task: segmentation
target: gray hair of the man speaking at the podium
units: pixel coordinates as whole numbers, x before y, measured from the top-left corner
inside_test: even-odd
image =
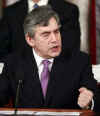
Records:
[[[52,10],[50,5],[40,6],[32,10],[24,20],[24,34],[34,37],[36,26],[48,26],[49,20],[54,17],[60,26],[58,14]]]

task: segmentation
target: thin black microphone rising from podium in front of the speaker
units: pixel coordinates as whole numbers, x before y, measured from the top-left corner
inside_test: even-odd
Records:
[[[19,93],[20,93],[20,88],[21,88],[22,82],[23,82],[22,80],[18,81],[17,92],[16,92],[16,99],[15,99],[14,116],[17,115],[17,107],[18,107],[18,102],[19,102]]]

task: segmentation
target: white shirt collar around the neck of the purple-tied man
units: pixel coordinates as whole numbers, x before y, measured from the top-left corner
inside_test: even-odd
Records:
[[[37,53],[35,52],[35,50],[33,49],[33,54],[34,54],[34,58],[36,60],[37,66],[39,67],[42,63],[43,60],[45,60],[44,58],[40,57],[39,55],[37,55]],[[51,64],[53,64],[54,58],[50,58],[47,59],[51,62]]]

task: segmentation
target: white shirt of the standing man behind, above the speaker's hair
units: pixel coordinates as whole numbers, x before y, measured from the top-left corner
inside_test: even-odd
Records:
[[[34,2],[33,0],[28,0],[28,12],[32,11],[34,8]],[[39,6],[42,6],[42,5],[47,5],[48,4],[48,0],[40,0],[38,3],[37,3]]]

